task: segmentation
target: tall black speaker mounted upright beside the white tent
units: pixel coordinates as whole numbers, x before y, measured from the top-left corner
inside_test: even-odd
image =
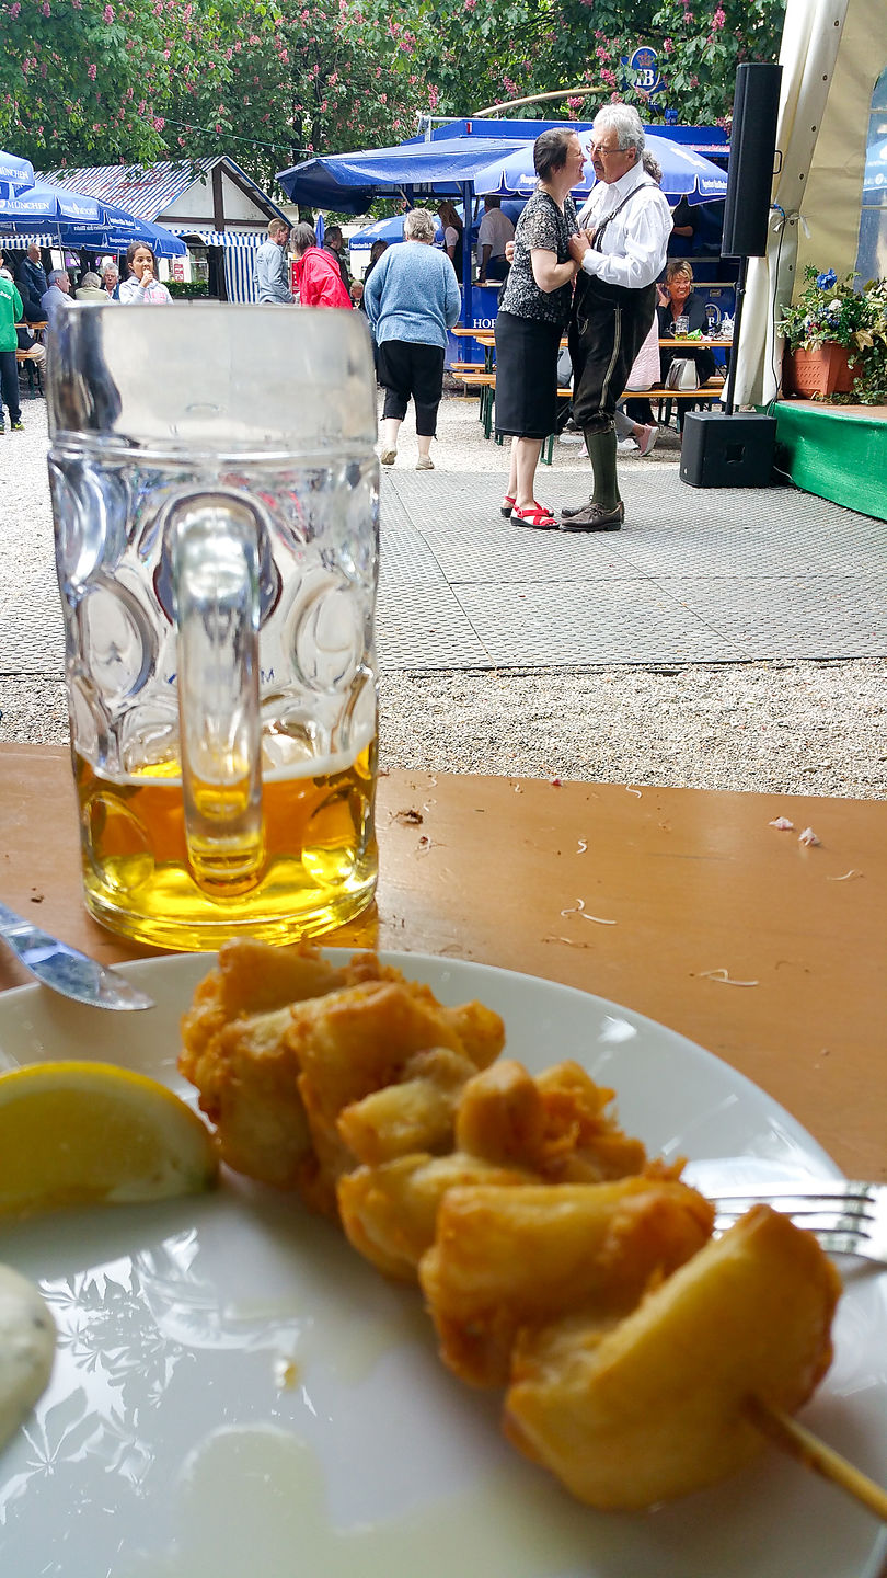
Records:
[[[783,68],[735,69],[721,257],[764,257]]]

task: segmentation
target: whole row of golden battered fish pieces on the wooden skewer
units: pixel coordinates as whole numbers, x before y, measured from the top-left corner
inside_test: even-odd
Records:
[[[822,1379],[840,1280],[813,1236],[758,1207],[712,1240],[712,1206],[622,1133],[612,1092],[497,1060],[480,1004],[374,955],[232,944],[183,1029],[224,1158],[418,1277],[444,1360],[507,1387],[505,1433],[581,1501],[723,1479],[764,1449],[750,1398],[791,1412]]]

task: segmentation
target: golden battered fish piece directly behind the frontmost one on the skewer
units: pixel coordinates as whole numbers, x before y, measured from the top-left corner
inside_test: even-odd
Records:
[[[473,1385],[505,1385],[522,1329],[576,1311],[627,1314],[710,1237],[713,1207],[685,1184],[492,1184],[450,1188],[418,1278],[440,1357]]]

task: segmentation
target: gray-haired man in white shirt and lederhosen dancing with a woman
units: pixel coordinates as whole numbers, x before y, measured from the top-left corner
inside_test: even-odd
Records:
[[[616,477],[616,402],[653,320],[671,210],[644,169],[644,128],[630,104],[600,110],[589,153],[597,185],[570,240],[579,264],[570,357],[573,420],[586,436],[593,492],[579,508],[560,511],[560,530],[619,532],[625,505]]]

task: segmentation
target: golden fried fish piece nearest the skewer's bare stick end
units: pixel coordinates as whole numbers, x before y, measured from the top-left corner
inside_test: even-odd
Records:
[[[764,1447],[747,1398],[792,1414],[825,1374],[840,1291],[813,1234],[756,1206],[616,1326],[521,1335],[505,1434],[604,1510],[712,1485]]]

